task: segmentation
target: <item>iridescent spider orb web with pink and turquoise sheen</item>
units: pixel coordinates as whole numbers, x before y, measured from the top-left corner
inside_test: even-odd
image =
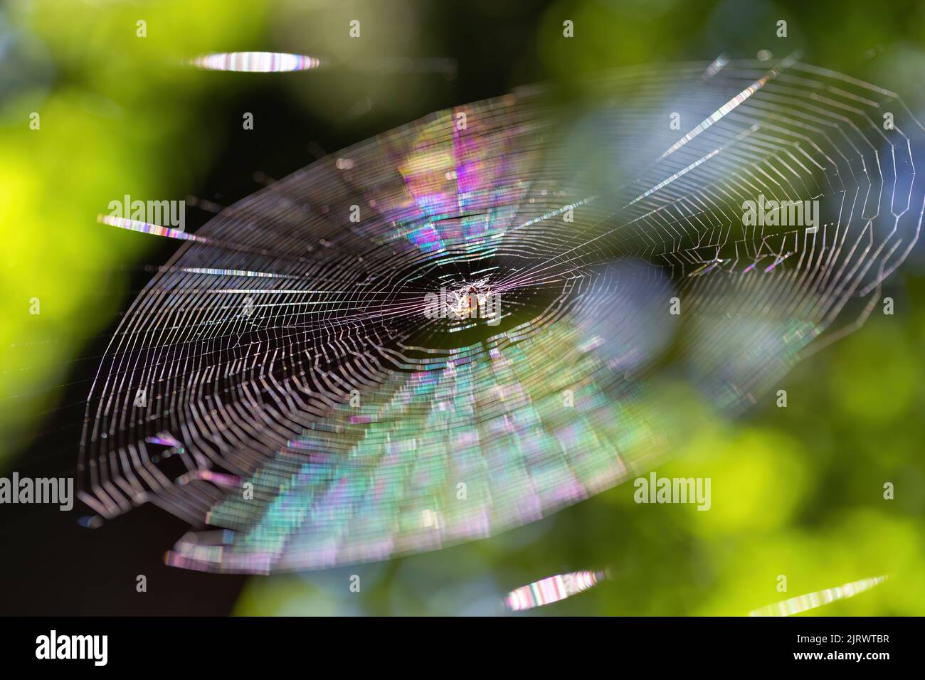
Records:
[[[921,132],[870,84],[725,61],[342,150],[178,241],[100,365],[81,498],[152,502],[191,525],[168,563],[245,573],[586,499],[672,451],[669,378],[734,414],[870,315],[918,239]]]

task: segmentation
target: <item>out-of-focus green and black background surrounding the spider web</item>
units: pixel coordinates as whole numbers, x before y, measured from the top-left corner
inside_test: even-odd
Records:
[[[348,25],[359,19],[362,39]],[[574,38],[561,39],[564,19]],[[775,35],[788,22],[788,37]],[[138,36],[138,21],[145,37]],[[208,52],[326,57],[326,69],[216,73]],[[72,475],[83,400],[120,314],[176,248],[97,224],[125,194],[187,200],[188,231],[352,142],[538,80],[638,63],[802,51],[900,93],[925,119],[925,3],[729,0],[12,0],[0,7],[0,476]],[[31,114],[40,128],[32,130]],[[242,130],[245,112],[254,130]],[[192,199],[190,197],[195,197]],[[198,200],[198,201],[197,201]],[[207,205],[207,204],[206,204]],[[310,575],[200,575],[161,552],[184,525],[142,508],[0,506],[4,613],[499,612],[544,576],[611,567],[549,614],[743,614],[888,574],[825,614],[925,613],[925,278],[891,278],[854,335],[735,422],[699,422],[660,476],[710,476],[712,508],[636,505],[625,484],[495,538]],[[30,314],[38,298],[41,314]],[[883,484],[894,483],[893,501]],[[137,593],[136,576],[148,579]],[[351,592],[350,575],[362,589]],[[788,591],[778,592],[778,575]]]

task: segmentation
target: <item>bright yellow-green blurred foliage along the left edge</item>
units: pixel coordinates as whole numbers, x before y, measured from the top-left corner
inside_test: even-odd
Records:
[[[221,6],[224,11],[216,9]],[[61,398],[69,362],[124,304],[111,276],[150,247],[96,223],[124,194],[176,196],[209,167],[216,142],[195,117],[207,96],[179,68],[191,51],[256,40],[260,2],[136,6],[18,2],[3,19],[6,63],[22,44],[48,78],[9,83],[0,104],[0,461]],[[247,17],[248,20],[241,20]],[[136,21],[147,22],[147,37]],[[40,114],[31,130],[30,115]],[[178,157],[179,149],[194,149]],[[30,314],[38,298],[41,313]],[[6,465],[5,465],[6,466]]]

